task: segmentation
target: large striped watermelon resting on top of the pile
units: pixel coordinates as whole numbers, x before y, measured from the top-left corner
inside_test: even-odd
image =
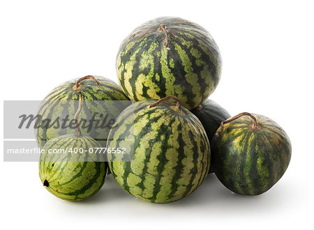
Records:
[[[187,109],[204,102],[220,79],[218,46],[204,28],[179,17],[137,27],[117,55],[120,86],[131,100],[175,95]]]

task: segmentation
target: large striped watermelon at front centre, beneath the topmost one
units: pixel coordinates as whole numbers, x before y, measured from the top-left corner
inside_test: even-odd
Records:
[[[168,203],[201,185],[209,171],[210,148],[191,112],[160,100],[135,102],[119,115],[107,148],[126,148],[128,154],[109,154],[108,164],[126,192],[144,201]]]

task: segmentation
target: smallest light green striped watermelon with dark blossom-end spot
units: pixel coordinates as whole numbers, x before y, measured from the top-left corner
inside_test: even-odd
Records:
[[[75,148],[78,153],[74,152]],[[101,146],[91,137],[81,135],[63,135],[48,141],[39,162],[40,181],[46,189],[68,201],[79,201],[96,194],[105,182],[107,166],[100,162],[100,155],[88,154],[91,148],[94,151]],[[68,152],[46,154],[49,149]]]

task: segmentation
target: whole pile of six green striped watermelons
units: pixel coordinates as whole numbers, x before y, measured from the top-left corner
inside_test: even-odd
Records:
[[[39,171],[45,188],[78,201],[96,194],[112,174],[129,194],[169,203],[187,197],[214,173],[238,194],[269,190],[290,162],[290,139],[266,116],[230,116],[208,99],[220,80],[221,63],[214,39],[198,24],[159,17],[137,27],[117,54],[119,86],[89,75],[57,86],[41,103],[43,120],[66,114],[74,118],[75,129],[43,125],[36,129],[38,146],[86,150],[42,154]],[[79,103],[58,106],[70,100]],[[133,102],[128,107],[98,104],[125,100]],[[93,103],[84,106],[84,101]],[[80,128],[77,119],[93,113],[115,118],[109,132]],[[89,154],[94,148],[106,149],[107,159]]]

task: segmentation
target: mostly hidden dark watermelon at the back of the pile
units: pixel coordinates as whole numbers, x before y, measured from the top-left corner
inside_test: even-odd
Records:
[[[225,121],[230,117],[227,110],[223,109],[223,107],[214,102],[214,100],[210,99],[205,100],[201,105],[192,109],[190,112],[192,112],[202,123],[209,139],[209,143],[211,143],[211,139],[213,139],[221,121]],[[215,152],[211,149],[211,156],[214,154]],[[212,163],[211,168],[209,169],[210,174],[214,172],[214,167],[215,166]]]

